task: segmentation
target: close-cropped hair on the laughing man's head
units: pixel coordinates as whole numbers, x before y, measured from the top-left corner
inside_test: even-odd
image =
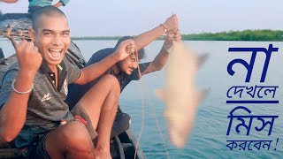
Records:
[[[48,17],[58,17],[58,16],[65,17],[65,13],[59,10],[57,7],[53,5],[44,6],[38,9],[37,11],[34,11],[32,15],[33,29],[35,32],[36,29],[38,28],[38,20],[41,19],[43,15]]]

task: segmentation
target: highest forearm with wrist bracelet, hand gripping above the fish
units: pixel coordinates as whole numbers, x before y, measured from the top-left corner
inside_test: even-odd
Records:
[[[145,46],[148,46],[150,42],[155,41],[158,37],[163,34],[166,34],[165,31],[170,32],[172,30],[177,30],[179,28],[179,22],[177,15],[173,15],[166,19],[166,21],[155,27],[148,32],[139,34],[134,37],[134,42],[136,43],[136,48],[142,49]]]

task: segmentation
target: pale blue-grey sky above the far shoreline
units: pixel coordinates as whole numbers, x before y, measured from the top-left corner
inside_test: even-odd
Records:
[[[57,2],[57,1],[54,1]],[[28,0],[0,4],[3,13],[27,12]],[[73,36],[141,34],[175,12],[182,34],[283,29],[282,0],[71,0],[61,7]]]

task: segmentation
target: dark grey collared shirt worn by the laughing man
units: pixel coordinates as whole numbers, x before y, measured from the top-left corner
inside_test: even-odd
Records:
[[[13,64],[8,72],[5,73],[2,87],[0,89],[0,108],[4,106],[11,94],[11,81],[15,79],[19,71],[19,64]],[[42,63],[41,68],[34,78],[34,89],[27,103],[27,119],[24,128],[17,137],[16,146],[24,147],[30,144],[30,135],[33,130],[40,127],[46,131],[56,128],[61,119],[72,120],[68,105],[64,102],[68,93],[67,85],[73,83],[80,77],[80,69],[64,59],[57,66],[58,84],[55,82],[55,73]],[[35,127],[35,128],[34,128]],[[20,140],[19,140],[20,139]]]

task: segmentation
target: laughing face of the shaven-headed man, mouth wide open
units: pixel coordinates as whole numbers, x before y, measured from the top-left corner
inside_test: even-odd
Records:
[[[60,64],[65,51],[70,46],[70,29],[64,16],[43,15],[34,31],[34,45],[42,54],[43,60],[51,67]]]

